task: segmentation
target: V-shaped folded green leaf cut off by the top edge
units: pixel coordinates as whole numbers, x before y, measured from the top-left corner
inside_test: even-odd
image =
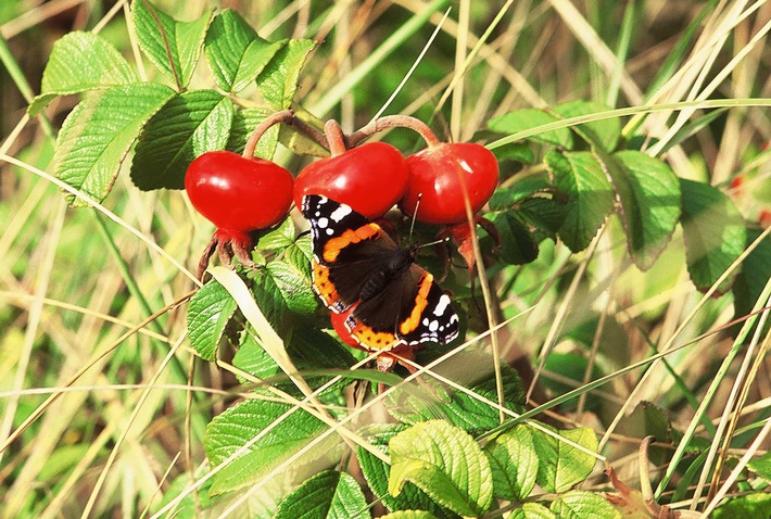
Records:
[[[139,48],[179,89],[190,83],[213,13],[178,22],[147,0],[135,0],[131,5]]]

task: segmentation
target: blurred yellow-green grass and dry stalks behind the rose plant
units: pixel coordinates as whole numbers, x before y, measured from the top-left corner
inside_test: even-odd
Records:
[[[768,206],[769,2],[156,4],[181,20],[232,7],[265,38],[323,41],[301,76],[298,101],[346,130],[386,105],[452,5],[387,114],[415,115],[460,141],[517,107],[583,99],[646,114],[642,106],[693,101],[682,111],[650,112],[640,119],[641,132],[661,142],[678,137],[666,154],[675,173],[720,187],[748,220],[762,219]],[[418,24],[429,7],[433,14]],[[195,360],[185,340],[185,307],[173,305],[194,288],[179,265],[193,268],[212,227],[182,193],[140,192],[127,170],[104,202],[117,220],[67,208],[49,176],[50,159],[56,128],[77,100],[55,101],[41,118],[25,115],[52,43],[71,30],[100,31],[143,77],[156,76],[136,51],[127,8],[81,0],[0,4],[0,517],[136,517],[151,504],[157,508],[170,479],[201,470],[205,425],[239,395],[227,366]],[[410,24],[415,30],[407,31]],[[212,86],[205,66],[193,86]],[[680,139],[680,125],[699,121],[710,100],[732,107]],[[386,139],[405,152],[415,145],[399,131]],[[648,149],[658,145],[652,140]],[[288,153],[278,160],[293,170],[304,163]],[[604,434],[608,463],[634,482],[643,426],[611,425],[647,401],[684,430],[733,346],[723,330],[734,302],[730,294],[705,300],[694,289],[677,237],[641,273],[630,266],[621,236],[610,220],[585,254],[546,244],[533,264],[491,276],[503,315],[529,311],[503,330],[504,356],[533,366],[547,359],[534,384],[546,400],[581,387],[587,365],[614,374],[656,349],[698,338],[666,363],[618,377],[552,414]],[[697,429],[707,446],[715,427],[708,422],[728,418],[732,391],[747,391],[733,454],[746,453],[768,425],[768,341],[754,340],[759,350],[748,359],[757,369],[744,374],[740,355],[720,375]],[[755,446],[768,447],[768,439]],[[691,506],[685,494],[678,497],[679,506]]]

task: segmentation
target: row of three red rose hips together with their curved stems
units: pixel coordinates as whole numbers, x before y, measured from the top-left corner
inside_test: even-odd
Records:
[[[278,123],[307,134],[329,149],[331,156],[313,162],[296,178],[270,161],[255,159],[260,137]],[[404,159],[384,142],[357,145],[370,135],[396,126],[418,131],[428,148]],[[281,221],[292,201],[300,208],[306,194],[323,194],[370,219],[399,205],[410,218],[445,226],[445,236],[457,238],[468,236],[468,215],[478,221],[475,215],[497,181],[498,164],[492,152],[470,142],[440,142],[428,126],[413,117],[383,117],[344,136],[333,121],[321,135],[291,111],[279,112],[255,128],[242,155],[207,152],[188,167],[185,188],[190,202],[217,227],[201,257],[199,277],[215,249],[224,263],[236,255],[251,264],[250,232]]]

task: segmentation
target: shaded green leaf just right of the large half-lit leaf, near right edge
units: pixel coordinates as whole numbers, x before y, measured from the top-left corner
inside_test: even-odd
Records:
[[[742,214],[722,191],[685,179],[680,179],[680,187],[688,273],[696,288],[707,291],[744,252],[747,232]],[[718,293],[731,288],[737,270],[718,287]]]

